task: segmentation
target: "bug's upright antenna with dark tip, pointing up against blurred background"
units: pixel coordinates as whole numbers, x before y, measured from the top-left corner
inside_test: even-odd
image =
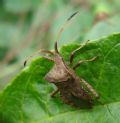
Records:
[[[61,35],[62,35],[62,33],[63,33],[65,27],[68,25],[68,23],[70,22],[70,20],[71,20],[75,15],[77,15],[77,14],[78,14],[78,11],[77,11],[77,12],[74,12],[74,13],[64,22],[64,24],[63,24],[62,27],[60,28],[60,30],[59,30],[59,32],[58,32],[58,35],[57,35],[57,38],[56,38],[55,46],[54,46],[54,47],[55,47],[55,52],[58,53],[57,42],[58,42],[58,40],[60,39],[60,37],[61,37]]]

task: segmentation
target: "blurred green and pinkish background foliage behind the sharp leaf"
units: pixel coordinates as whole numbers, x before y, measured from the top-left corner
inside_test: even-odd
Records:
[[[61,26],[75,11],[79,15],[65,27],[59,46],[120,32],[119,6],[119,0],[1,0],[0,88],[28,55],[53,48]]]

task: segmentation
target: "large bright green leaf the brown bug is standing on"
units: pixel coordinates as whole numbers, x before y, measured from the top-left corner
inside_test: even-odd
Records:
[[[67,61],[77,44],[63,46]],[[59,94],[50,97],[53,85],[43,77],[53,63],[38,58],[25,68],[0,94],[0,123],[119,123],[120,122],[120,34],[90,42],[76,53],[79,59],[98,56],[82,64],[76,74],[88,81],[105,105],[77,109],[64,104]]]

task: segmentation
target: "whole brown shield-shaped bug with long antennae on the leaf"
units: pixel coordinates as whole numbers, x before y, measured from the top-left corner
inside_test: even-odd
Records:
[[[72,14],[67,22],[77,14]],[[66,24],[66,23],[65,23]],[[65,25],[64,25],[65,26]],[[64,28],[61,28],[58,37],[61,35]],[[56,85],[57,89],[51,94],[54,97],[56,93],[60,92],[60,97],[64,103],[75,107],[92,107],[93,98],[98,99],[99,95],[84,79],[76,75],[75,69],[82,63],[94,61],[96,57],[89,60],[80,60],[74,66],[72,65],[75,53],[86,45],[81,45],[79,48],[71,52],[69,63],[66,63],[58,51],[57,42],[54,46],[54,51],[40,50],[38,52],[45,52],[52,55],[52,58],[43,56],[44,58],[53,61],[53,68],[45,75],[45,80]],[[36,53],[38,53],[36,52]],[[33,54],[35,55],[35,54]],[[30,57],[32,57],[31,55]],[[28,59],[30,58],[28,57]],[[27,59],[27,60],[28,60]],[[27,60],[24,62],[26,65]]]

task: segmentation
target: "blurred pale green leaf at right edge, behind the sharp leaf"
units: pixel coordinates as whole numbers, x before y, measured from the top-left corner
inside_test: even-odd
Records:
[[[108,36],[113,33],[120,32],[120,14],[117,14],[110,19],[103,20],[96,25],[86,34],[84,40],[98,39],[102,36]]]

